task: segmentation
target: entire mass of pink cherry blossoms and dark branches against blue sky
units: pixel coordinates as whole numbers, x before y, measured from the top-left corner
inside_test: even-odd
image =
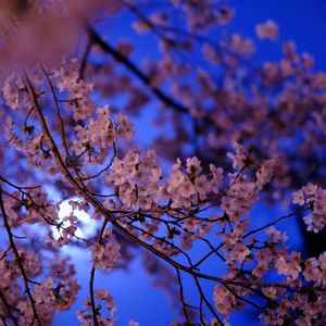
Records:
[[[97,271],[122,267],[137,251],[145,253],[155,284],[174,300],[179,294],[181,324],[206,325],[212,318],[212,325],[229,325],[233,312],[250,305],[266,325],[322,325],[325,252],[305,260],[290,250],[277,226],[308,210],[308,230],[326,225],[326,190],[317,186],[324,174],[313,166],[325,161],[326,74],[313,71],[313,59],[287,42],[279,61],[253,70],[259,48],[251,39],[238,33],[210,39],[233,16],[231,9],[211,0],[171,0],[163,5],[167,10],[152,8],[149,14],[146,4],[133,1],[27,2],[9,15],[17,15],[16,22],[0,22],[1,46],[23,51],[14,55],[18,67],[11,65],[2,83],[2,323],[49,325],[57,313],[72,309],[79,285],[61,248],[80,243],[91,265],[89,297],[77,315],[83,325],[115,324],[112,296],[95,288]],[[158,37],[159,59],[138,66],[131,41],[114,47],[92,28],[99,10],[113,13],[123,5],[137,17],[131,23],[137,32]],[[28,23],[30,17],[37,18]],[[72,26],[72,34],[63,26],[50,28],[57,17]],[[38,33],[28,45],[22,36],[32,27]],[[80,43],[85,52],[78,59],[68,51],[62,57],[75,28],[88,36]],[[34,46],[48,34],[53,42],[36,54]],[[276,40],[278,26],[267,21],[256,34]],[[109,98],[110,110],[103,104]],[[166,108],[155,112],[160,127],[168,123],[176,137],[160,135],[155,150],[143,151],[130,145],[133,123],[122,112],[141,114],[156,101]],[[156,153],[173,156],[170,172]],[[292,202],[302,209],[277,217],[266,209],[263,223],[256,208],[288,200],[286,190],[298,184],[306,184],[293,193]],[[59,220],[61,201],[51,199],[58,193],[82,199],[71,205],[91,214],[96,236],[78,236],[75,211]],[[209,281],[211,287],[203,286]],[[197,290],[198,306],[186,297],[185,285]]]

